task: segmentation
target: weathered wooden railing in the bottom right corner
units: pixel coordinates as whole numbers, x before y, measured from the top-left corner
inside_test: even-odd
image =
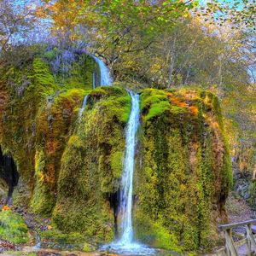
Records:
[[[249,256],[252,255],[252,246],[254,247],[254,250],[256,250],[256,242],[253,237],[252,224],[256,224],[256,219],[243,221],[236,224],[224,224],[224,225],[218,226],[219,230],[224,232],[226,243],[225,243],[225,249],[219,250],[217,254],[223,255],[224,253],[224,255],[227,255],[227,256],[238,256],[237,248],[246,244],[247,255]],[[241,241],[234,242],[232,237],[232,229],[241,227],[241,226],[245,226],[247,229],[246,237]],[[221,252],[221,251],[224,251],[224,252]]]

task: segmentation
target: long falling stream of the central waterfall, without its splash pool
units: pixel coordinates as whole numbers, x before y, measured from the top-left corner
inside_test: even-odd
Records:
[[[131,209],[132,209],[132,181],[133,181],[133,170],[134,170],[134,154],[136,147],[136,134],[139,125],[140,115],[140,100],[139,95],[131,95],[131,113],[128,122],[128,127],[125,133],[126,137],[126,153],[124,170],[122,174],[122,187],[120,193],[119,210],[122,214],[120,228],[122,235],[120,243],[127,245],[133,240],[133,229],[131,220]]]

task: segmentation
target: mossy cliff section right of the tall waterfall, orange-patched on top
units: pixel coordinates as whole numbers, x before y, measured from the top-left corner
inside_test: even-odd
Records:
[[[155,247],[211,247],[232,183],[218,99],[147,89],[141,101],[136,237]]]

